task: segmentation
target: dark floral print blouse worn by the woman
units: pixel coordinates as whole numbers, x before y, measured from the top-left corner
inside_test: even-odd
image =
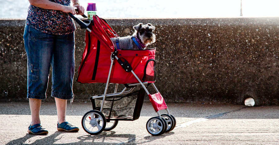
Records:
[[[64,6],[70,6],[70,0],[49,0]],[[26,24],[39,31],[54,34],[66,35],[76,30],[73,19],[60,10],[48,10],[30,5]]]

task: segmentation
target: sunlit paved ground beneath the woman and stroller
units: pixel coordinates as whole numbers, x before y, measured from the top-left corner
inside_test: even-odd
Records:
[[[151,103],[144,103],[136,121],[120,121],[113,131],[87,134],[81,126],[83,114],[91,103],[73,104],[67,120],[78,126],[78,133],[56,130],[56,107],[42,103],[41,121],[48,135],[29,135],[28,102],[0,103],[0,144],[85,144],[85,145],[157,145],[157,144],[263,144],[279,145],[279,106],[245,107],[232,104],[167,104],[177,125],[169,133],[151,136],[145,125],[156,116]],[[69,106],[68,106],[69,108]]]

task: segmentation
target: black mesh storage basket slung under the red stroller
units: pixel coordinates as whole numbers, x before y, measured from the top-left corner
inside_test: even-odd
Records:
[[[106,98],[102,111],[105,117],[110,120],[138,119],[144,101],[145,91],[143,88],[139,90],[135,89],[133,92],[123,96]],[[95,99],[96,110],[100,110],[102,101],[102,99]]]

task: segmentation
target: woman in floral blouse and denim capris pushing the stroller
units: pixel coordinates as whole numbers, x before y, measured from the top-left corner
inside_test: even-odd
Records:
[[[46,98],[50,65],[52,66],[52,91],[57,108],[57,130],[79,131],[66,122],[67,99],[73,98],[74,31],[73,20],[67,13],[84,14],[78,0],[29,0],[30,6],[24,30],[24,47],[27,54],[27,98],[31,110],[29,134],[45,135],[39,112],[41,100]]]

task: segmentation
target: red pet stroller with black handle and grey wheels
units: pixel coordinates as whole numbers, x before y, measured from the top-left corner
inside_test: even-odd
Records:
[[[151,135],[162,135],[174,129],[175,117],[170,114],[166,103],[154,85],[156,79],[155,48],[144,50],[117,50],[110,38],[118,37],[106,20],[94,15],[93,20],[75,19],[81,28],[86,28],[85,49],[78,69],[80,83],[106,83],[104,94],[90,97],[93,110],[82,118],[82,128],[91,135],[110,131],[118,121],[133,121],[139,118],[147,93],[157,117],[150,118],[146,129]],[[80,21],[82,20],[82,21]],[[109,84],[116,84],[114,93],[107,93]],[[125,88],[117,92],[118,84]],[[146,86],[145,86],[146,85]],[[152,85],[157,93],[150,94],[147,86]],[[136,90],[136,88],[140,88]],[[159,110],[166,110],[160,114]]]

